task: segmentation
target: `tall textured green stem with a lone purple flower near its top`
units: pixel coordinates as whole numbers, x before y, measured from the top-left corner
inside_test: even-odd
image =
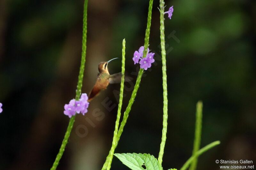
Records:
[[[164,155],[164,145],[166,141],[167,133],[167,119],[168,119],[168,99],[167,99],[167,75],[166,75],[166,52],[165,52],[165,41],[164,41],[164,0],[160,0],[160,40],[161,40],[161,54],[162,54],[162,72],[163,72],[163,97],[164,97],[164,107],[163,107],[163,130],[162,130],[162,140],[160,144],[160,151],[158,156],[158,161],[162,164]]]

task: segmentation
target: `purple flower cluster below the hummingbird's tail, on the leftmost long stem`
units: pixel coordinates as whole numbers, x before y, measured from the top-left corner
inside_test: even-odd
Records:
[[[82,113],[83,115],[88,112],[87,108],[89,106],[88,96],[83,93],[78,101],[75,99],[70,100],[69,104],[64,105],[64,114],[69,118],[74,116],[76,113]]]

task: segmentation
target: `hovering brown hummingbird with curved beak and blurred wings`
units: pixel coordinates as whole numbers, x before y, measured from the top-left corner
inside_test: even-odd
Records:
[[[108,72],[108,63],[112,60],[115,60],[117,58],[113,58],[107,62],[100,62],[98,69],[99,69],[99,74],[96,80],[95,85],[93,86],[88,102],[90,102],[94,97],[98,96],[100,94],[100,91],[107,89],[109,84],[114,84],[114,83],[120,83],[121,82],[121,77],[122,73],[116,73],[116,74],[109,74]],[[130,77],[125,77],[124,81],[131,81],[132,79]]]

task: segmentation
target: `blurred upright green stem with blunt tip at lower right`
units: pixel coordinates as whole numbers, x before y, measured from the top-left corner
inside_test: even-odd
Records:
[[[195,156],[195,159],[191,163],[189,170],[196,170],[196,164],[197,164],[197,156],[196,152],[200,148],[201,143],[201,132],[202,132],[202,117],[203,117],[203,103],[201,101],[197,102],[196,104],[196,128],[195,128],[195,139],[194,139],[194,148],[192,156]]]

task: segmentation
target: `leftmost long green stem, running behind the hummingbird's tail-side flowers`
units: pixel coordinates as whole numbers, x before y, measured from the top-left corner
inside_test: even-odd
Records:
[[[83,19],[83,40],[82,40],[82,57],[81,57],[81,65],[80,65],[80,71],[78,76],[78,82],[77,82],[77,89],[76,89],[76,100],[79,100],[82,92],[82,85],[83,85],[83,77],[84,77],[84,64],[85,64],[85,57],[86,57],[86,38],[87,38],[87,6],[88,6],[88,0],[84,1],[84,19]],[[68,138],[70,136],[71,130],[73,128],[74,122],[75,122],[76,116],[72,116],[68,123],[68,128],[65,133],[64,139],[62,141],[62,144],[60,146],[60,151],[57,154],[55,161],[52,165],[51,170],[55,170],[57,166],[59,165],[60,159],[65,151],[65,147],[68,143]]]

